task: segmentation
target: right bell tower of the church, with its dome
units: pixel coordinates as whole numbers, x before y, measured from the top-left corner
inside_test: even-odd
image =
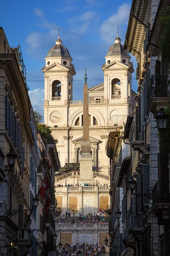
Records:
[[[102,66],[104,71],[104,101],[106,104],[132,104],[131,74],[134,72],[130,55],[121,44],[119,34],[111,45]]]

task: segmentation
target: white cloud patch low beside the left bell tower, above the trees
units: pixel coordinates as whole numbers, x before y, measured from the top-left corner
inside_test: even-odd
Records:
[[[29,97],[31,99],[31,105],[33,110],[38,111],[41,114],[44,114],[42,105],[44,105],[44,90],[37,88],[29,91]]]

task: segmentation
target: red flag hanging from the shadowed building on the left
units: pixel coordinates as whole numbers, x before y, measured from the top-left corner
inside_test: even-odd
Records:
[[[47,175],[40,186],[38,194],[40,195],[40,198],[45,199],[44,209],[47,212],[48,208],[51,206],[50,186]]]

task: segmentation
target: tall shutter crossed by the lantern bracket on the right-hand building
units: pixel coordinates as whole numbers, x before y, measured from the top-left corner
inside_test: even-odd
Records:
[[[143,165],[143,193],[149,194],[150,192],[150,165],[144,164]],[[148,205],[150,199],[146,196],[143,197],[143,204]]]

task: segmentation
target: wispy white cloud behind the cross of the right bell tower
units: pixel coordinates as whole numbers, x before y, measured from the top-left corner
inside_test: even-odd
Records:
[[[122,34],[125,34],[126,29],[123,29],[124,25],[127,25],[128,18],[130,13],[130,4],[129,3],[123,3],[119,8],[117,9],[117,12],[113,13],[107,20],[105,20],[100,28],[100,34],[101,38],[109,43],[112,44],[114,38],[117,35],[117,28],[116,26],[119,25],[119,35],[121,32]]]

